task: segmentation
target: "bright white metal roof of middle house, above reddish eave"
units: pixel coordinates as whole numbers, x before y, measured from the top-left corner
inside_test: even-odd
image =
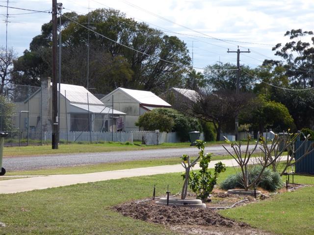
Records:
[[[156,94],[152,92],[147,92],[147,91],[139,91],[139,90],[131,90],[131,89],[126,89],[126,88],[117,88],[124,93],[130,95],[132,98],[137,100],[140,104],[148,104],[148,105],[158,105],[158,106],[168,106],[170,107],[171,105],[168,104],[166,101],[163,99],[159,98]]]

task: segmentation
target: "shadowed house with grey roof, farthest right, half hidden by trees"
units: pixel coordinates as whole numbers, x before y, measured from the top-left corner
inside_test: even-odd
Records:
[[[159,97],[169,102],[172,108],[184,111],[197,102],[199,94],[194,90],[173,87]]]

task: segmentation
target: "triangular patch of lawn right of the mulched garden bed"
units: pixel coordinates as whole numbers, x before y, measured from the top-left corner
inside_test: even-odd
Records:
[[[314,177],[296,177],[296,183],[312,183]],[[220,211],[224,216],[280,235],[314,234],[314,187],[282,193],[269,200]]]

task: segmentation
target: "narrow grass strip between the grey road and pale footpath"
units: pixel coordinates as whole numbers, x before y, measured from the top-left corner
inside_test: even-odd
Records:
[[[193,160],[194,158],[191,158]],[[231,159],[230,156],[213,156],[212,161]],[[92,164],[92,165],[78,165],[69,167],[58,167],[58,168],[46,168],[38,170],[24,170],[24,171],[8,171],[7,176],[10,175],[56,175],[56,174],[84,174],[100,171],[109,170],[122,170],[140,167],[149,167],[157,165],[173,165],[180,164],[181,160],[179,157],[172,158],[160,158],[150,159],[141,161],[127,161],[119,163],[103,163],[103,164]],[[183,169],[183,168],[182,168]]]

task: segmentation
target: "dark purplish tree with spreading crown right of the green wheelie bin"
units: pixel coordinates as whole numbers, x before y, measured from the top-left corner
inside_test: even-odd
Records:
[[[216,141],[220,141],[220,133],[226,130],[228,123],[233,122],[241,110],[247,107],[252,94],[235,94],[232,91],[215,93],[200,92],[193,106],[193,115],[212,122],[216,130]]]

